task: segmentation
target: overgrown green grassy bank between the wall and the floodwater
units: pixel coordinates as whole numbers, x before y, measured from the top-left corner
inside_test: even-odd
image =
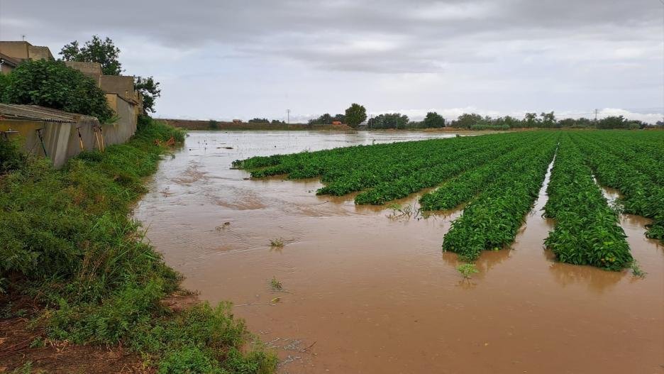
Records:
[[[128,143],[82,153],[62,170],[0,142],[0,297],[39,302],[33,326],[44,333],[34,346],[122,343],[159,373],[270,373],[275,356],[250,344],[229,304],[172,312],[160,302],[180,277],[128,214],[170,152],[155,140],[171,137],[184,141],[145,117]]]

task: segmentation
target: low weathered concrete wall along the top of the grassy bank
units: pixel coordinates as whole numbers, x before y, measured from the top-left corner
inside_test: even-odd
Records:
[[[23,143],[23,150],[33,155],[44,156],[44,150],[37,134],[37,130],[43,128],[42,136],[46,155],[57,168],[62,167],[67,160],[81,153],[79,131],[81,132],[84,150],[99,149],[99,143],[97,143],[95,137],[95,126],[99,126],[99,122],[94,117],[83,117],[76,123],[0,119],[0,131],[9,131],[10,128],[13,131],[18,131],[17,134],[11,134],[10,138],[18,139]],[[104,145],[108,147],[109,145],[126,142],[133,136],[135,129],[135,122],[133,131],[128,131],[126,126],[118,124],[102,126]],[[101,138],[99,139],[99,142],[101,142]]]

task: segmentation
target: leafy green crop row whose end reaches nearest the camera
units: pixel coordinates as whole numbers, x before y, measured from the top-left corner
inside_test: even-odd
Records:
[[[632,262],[618,215],[568,134],[560,141],[547,194],[544,211],[555,219],[555,228],[545,244],[559,261],[607,270],[621,270]]]

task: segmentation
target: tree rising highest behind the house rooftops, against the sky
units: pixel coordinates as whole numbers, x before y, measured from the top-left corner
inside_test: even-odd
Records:
[[[120,75],[122,65],[118,60],[120,48],[117,48],[111,38],[101,40],[99,35],[92,35],[92,40],[85,42],[79,48],[78,40],[65,44],[60,50],[60,55],[65,61],[99,62],[101,73],[104,75]]]

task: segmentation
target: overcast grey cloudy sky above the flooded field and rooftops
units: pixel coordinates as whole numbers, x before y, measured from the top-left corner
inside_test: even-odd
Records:
[[[111,37],[157,116],[664,112],[664,0],[0,0],[0,40]]]

